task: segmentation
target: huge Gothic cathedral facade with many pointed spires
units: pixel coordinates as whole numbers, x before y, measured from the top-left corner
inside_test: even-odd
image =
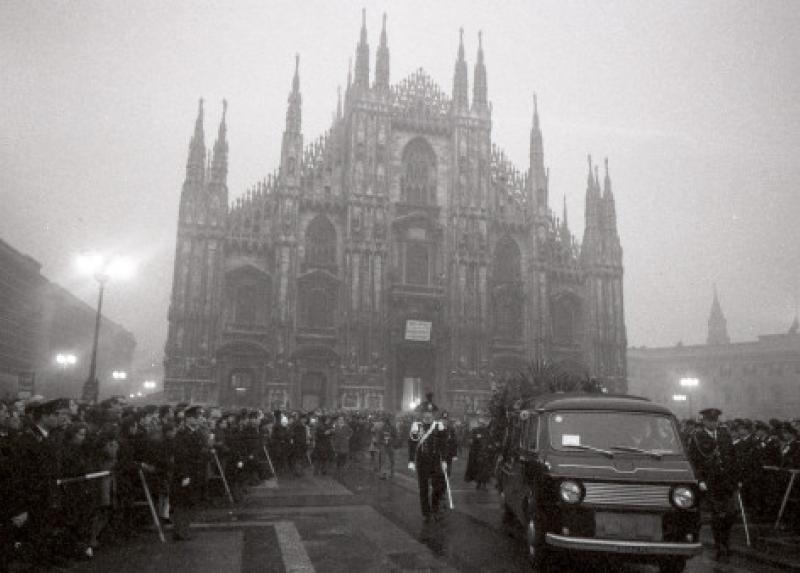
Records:
[[[452,95],[422,70],[390,80],[384,17],[366,24],[330,129],[304,145],[299,69],[280,165],[229,203],[225,107],[203,102],[180,198],[165,390],[170,400],[458,412],[531,360],[625,390],[614,195],[589,160],[583,242],[549,205],[534,100],[527,169],[492,141],[483,47],[463,34]],[[299,68],[299,61],[298,61]],[[470,97],[471,95],[471,97]],[[581,166],[576,165],[576,169]]]

